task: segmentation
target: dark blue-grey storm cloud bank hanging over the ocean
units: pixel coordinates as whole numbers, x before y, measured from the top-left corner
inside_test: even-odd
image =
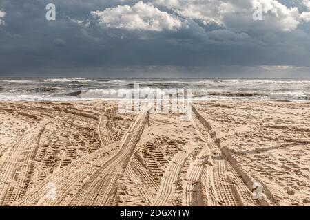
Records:
[[[224,28],[157,2],[177,28],[164,23],[156,31],[130,30],[117,27],[127,20],[112,20],[115,27],[107,28],[90,13],[136,2],[2,0],[6,17],[0,25],[0,76],[310,76],[309,23],[296,28],[292,23],[290,31],[282,31],[283,23],[268,28],[268,21],[253,28],[249,12],[242,18],[227,14]],[[247,0],[239,0],[238,7],[243,2]],[[56,21],[45,20],[47,3],[56,5]],[[162,15],[156,17],[163,21]]]

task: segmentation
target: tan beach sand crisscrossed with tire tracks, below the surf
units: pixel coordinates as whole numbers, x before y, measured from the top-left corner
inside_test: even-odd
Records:
[[[0,102],[1,206],[310,206],[310,102]]]

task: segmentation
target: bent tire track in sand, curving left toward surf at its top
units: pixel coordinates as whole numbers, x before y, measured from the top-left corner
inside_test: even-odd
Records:
[[[86,113],[87,115],[85,115]],[[21,199],[17,204],[25,203],[25,201],[27,201],[26,203],[38,203],[44,204],[45,206],[54,206],[61,204],[65,197],[67,197],[72,192],[72,188],[74,189],[81,185],[81,182],[83,182],[84,179],[86,179],[89,175],[98,170],[98,167],[100,167],[101,164],[103,164],[109,157],[111,157],[115,153],[117,149],[116,145],[118,144],[118,142],[112,144],[112,140],[110,140],[110,137],[108,136],[106,126],[107,117],[105,115],[98,115],[90,111],[85,111],[85,113],[83,111],[83,114],[81,116],[85,118],[90,118],[92,120],[96,120],[96,118],[99,119],[97,133],[99,135],[99,139],[101,140],[103,149],[99,149],[98,151],[79,159],[79,161],[74,162],[68,168],[60,170],[59,172],[54,173],[51,177],[45,179],[42,184],[39,184],[37,188],[32,190],[32,195],[36,195],[35,197],[31,197],[33,199],[32,202],[30,198],[25,197],[25,199]],[[94,162],[92,166],[90,166],[90,164],[88,163],[89,161],[87,162],[87,159],[94,160],[95,157],[99,157],[99,159],[97,158],[96,162]],[[75,169],[79,169],[79,172],[72,175],[72,172],[70,172],[70,170]],[[45,197],[45,185],[49,182],[52,182],[53,184],[55,184],[55,186],[61,186],[61,188],[57,188],[58,190],[55,199],[48,199],[48,197]]]

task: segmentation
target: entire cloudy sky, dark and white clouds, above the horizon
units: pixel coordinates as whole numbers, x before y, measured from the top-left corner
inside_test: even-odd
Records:
[[[1,0],[0,76],[310,78],[310,2]]]

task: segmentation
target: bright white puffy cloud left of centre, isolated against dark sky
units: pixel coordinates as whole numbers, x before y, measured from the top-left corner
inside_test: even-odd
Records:
[[[180,19],[143,1],[132,6],[118,5],[116,8],[107,8],[91,14],[106,28],[162,31],[176,30],[182,26]]]

